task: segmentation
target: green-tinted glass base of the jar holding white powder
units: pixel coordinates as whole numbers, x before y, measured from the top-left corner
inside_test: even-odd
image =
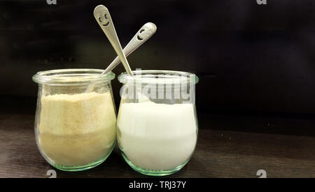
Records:
[[[169,174],[174,174],[175,172],[178,172],[179,170],[181,170],[181,168],[183,168],[189,161],[186,160],[183,164],[175,167],[174,169],[172,170],[146,170],[146,169],[143,169],[141,167],[138,167],[136,165],[134,165],[128,158],[127,156],[125,155],[125,153],[121,153],[123,158],[125,159],[125,161],[128,163],[128,165],[130,165],[130,167],[132,167],[133,170],[141,173],[141,174],[146,174],[146,175],[149,175],[149,176],[166,176],[166,175],[169,175]]]

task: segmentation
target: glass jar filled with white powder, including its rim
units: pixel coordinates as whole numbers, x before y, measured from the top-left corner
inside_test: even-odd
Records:
[[[118,76],[118,145],[137,172],[173,174],[188,163],[197,143],[195,74],[181,71],[134,71]]]

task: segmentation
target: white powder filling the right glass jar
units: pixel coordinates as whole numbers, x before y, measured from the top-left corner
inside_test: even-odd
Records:
[[[192,155],[197,142],[193,104],[122,103],[118,144],[127,158],[147,170],[171,170]]]

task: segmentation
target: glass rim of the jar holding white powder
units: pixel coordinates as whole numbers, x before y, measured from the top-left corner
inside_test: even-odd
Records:
[[[134,76],[130,76],[126,72],[118,76],[120,83],[194,83],[199,82],[199,78],[192,73],[185,71],[170,70],[136,70],[132,71]]]

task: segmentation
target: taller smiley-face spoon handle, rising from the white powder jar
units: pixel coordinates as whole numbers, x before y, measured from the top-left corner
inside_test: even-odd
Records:
[[[104,34],[107,36],[107,39],[109,39],[109,42],[111,42],[111,46],[113,46],[115,49],[118,57],[121,58],[121,62],[123,62],[127,74],[133,76],[130,65],[125,57],[125,54],[123,53],[123,48],[121,48],[120,42],[118,40],[117,33],[113,25],[113,20],[111,20],[111,15],[109,14],[109,10],[106,8],[106,6],[97,6],[94,9],[94,18],[97,20],[99,27],[102,28]]]

